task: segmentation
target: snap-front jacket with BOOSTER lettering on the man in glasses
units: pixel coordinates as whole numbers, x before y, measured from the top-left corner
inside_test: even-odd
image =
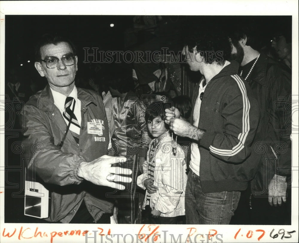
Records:
[[[69,131],[62,148],[57,146],[67,124],[54,105],[48,85],[30,97],[20,118],[24,127],[23,146],[32,162],[31,171],[52,192],[51,214],[46,219],[51,222],[70,222],[83,200],[95,221],[103,213],[113,212],[113,203],[105,198],[107,188],[77,176],[81,162],[90,162],[107,154],[109,145],[108,123],[101,97],[91,90],[78,88],[77,91],[82,117],[79,145]],[[103,136],[88,134],[87,122],[102,123]]]

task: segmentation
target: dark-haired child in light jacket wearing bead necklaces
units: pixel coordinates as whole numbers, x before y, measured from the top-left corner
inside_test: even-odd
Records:
[[[185,215],[184,152],[164,122],[165,108],[167,104],[156,101],[145,112],[147,127],[154,139],[137,184],[146,190],[142,209],[150,212],[149,222],[145,222],[150,224],[176,224],[178,216]]]

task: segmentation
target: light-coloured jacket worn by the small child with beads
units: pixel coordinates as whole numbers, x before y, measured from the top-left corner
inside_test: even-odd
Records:
[[[185,155],[177,144],[177,153],[173,154],[171,136],[166,136],[155,156],[154,186],[158,187],[151,194],[150,207],[161,212],[161,217],[185,215],[185,188],[187,182]],[[137,178],[137,185],[146,189],[143,182],[148,179],[147,161],[144,172]],[[147,191],[142,209],[146,206]]]

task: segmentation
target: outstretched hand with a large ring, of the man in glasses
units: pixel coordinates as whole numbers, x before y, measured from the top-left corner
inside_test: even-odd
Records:
[[[130,183],[132,178],[121,175],[130,175],[132,170],[120,167],[112,167],[118,162],[126,162],[126,157],[111,157],[103,155],[91,162],[81,162],[78,167],[77,175],[99,186],[109,186],[119,190],[125,189],[125,186],[115,182]],[[115,174],[115,181],[107,180],[108,174]]]

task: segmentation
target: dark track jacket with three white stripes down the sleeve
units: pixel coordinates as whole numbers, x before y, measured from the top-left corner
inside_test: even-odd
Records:
[[[204,193],[245,190],[260,161],[254,151],[255,141],[260,141],[260,109],[251,88],[237,75],[238,68],[236,61],[225,66],[208,82],[202,98],[198,128],[205,133],[198,147]],[[199,86],[195,91],[193,107]]]

